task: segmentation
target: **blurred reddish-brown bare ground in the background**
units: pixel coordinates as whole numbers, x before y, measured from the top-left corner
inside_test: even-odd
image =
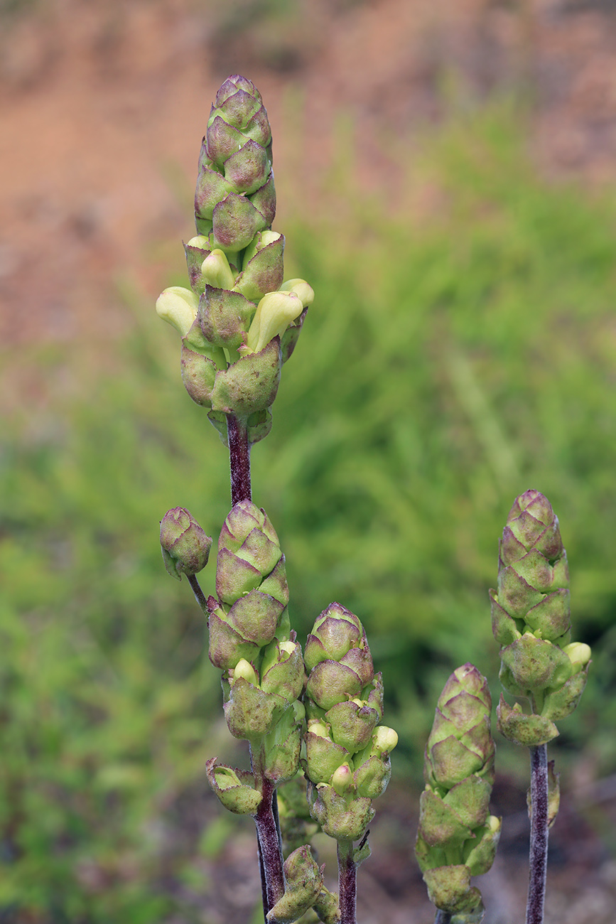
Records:
[[[127,323],[117,281],[129,277],[154,298],[170,267],[181,267],[200,139],[229,73],[253,79],[266,101],[280,199],[292,176],[306,177],[296,207],[315,207],[341,115],[355,126],[358,175],[378,188],[387,138],[408,137],[410,156],[414,131],[452,106],[520,87],[533,100],[528,146],[538,170],[589,186],[616,177],[613,0],[289,0],[277,16],[269,8],[254,0],[2,6],[0,344],[17,364],[4,402],[23,400],[30,387],[27,372],[18,374],[30,343],[108,340]],[[613,794],[592,798],[595,816],[613,825]],[[524,807],[503,805],[513,821],[482,886],[488,924],[523,918]],[[581,810],[563,812],[552,834],[547,924],[616,919],[616,865]],[[360,877],[363,924],[431,919],[410,859],[415,830],[410,804],[393,793]],[[255,894],[252,836],[209,866],[214,897],[205,905],[199,894],[184,898],[211,924],[242,924]]]

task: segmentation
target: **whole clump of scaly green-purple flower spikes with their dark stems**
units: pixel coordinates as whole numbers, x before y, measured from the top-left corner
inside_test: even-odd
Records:
[[[251,81],[234,75],[216,93],[201,145],[197,235],[185,245],[189,287],[167,288],[156,302],[181,336],[187,393],[229,450],[232,508],[218,540],[216,596],[206,598],[197,578],[211,539],[187,510],[165,514],[161,546],[167,571],[187,577],[207,617],[224,716],[248,742],[250,771],[211,757],[206,774],[225,808],[255,820],[266,921],[356,924],[356,869],[369,857],[372,803],[389,783],[398,736],[382,724],[382,676],[356,614],[331,603],[302,655],[281,543],[252,501],[250,448],[271,430],[282,367],[314,297],[305,280],[284,280],[275,210],[267,112]],[[558,808],[546,743],[574,710],[590,659],[586,645],[571,643],[568,579],[558,520],[542,494],[527,491],[507,519],[498,590],[490,591],[502,685],[529,704],[525,711],[501,697],[498,710],[501,733],[531,748],[527,924],[542,919],[548,824]],[[426,748],[416,855],[440,924],[484,915],[470,880],[491,866],[501,831],[489,813],[490,708],[485,678],[470,663],[458,667]],[[325,888],[309,844],[319,830],[337,842],[338,894]]]

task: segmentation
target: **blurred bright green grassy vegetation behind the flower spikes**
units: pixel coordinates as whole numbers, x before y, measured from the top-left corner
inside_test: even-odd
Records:
[[[527,487],[561,517],[574,638],[596,651],[553,752],[616,766],[614,194],[550,186],[523,139],[524,117],[501,108],[429,140],[415,182],[423,171],[439,204],[421,222],[363,197],[342,152],[326,211],[284,227],[286,275],[317,298],[253,450],[254,499],[281,536],[300,640],[332,600],[365,621],[396,766],[416,782],[453,667],[477,663],[498,696],[487,589]],[[134,327],[113,374],[44,420],[22,407],[2,436],[6,921],[162,921],[169,883],[199,879],[195,856],[226,836],[199,847],[192,830],[204,761],[230,746],[203,620],[164,572],[157,521],[187,506],[215,537],[228,463],[182,388],[175,332],[120,289]],[[38,362],[51,378],[65,360]],[[501,748],[501,770],[520,759]]]

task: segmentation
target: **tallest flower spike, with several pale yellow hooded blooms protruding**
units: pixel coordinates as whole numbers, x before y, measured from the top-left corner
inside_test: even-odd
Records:
[[[226,79],[211,107],[195,194],[198,235],[187,245],[190,289],[165,289],[156,310],[182,336],[188,394],[248,422],[256,442],[269,432],[269,408],[313,292],[284,278],[284,237],[272,231],[276,194],[272,132],[250,80]]]

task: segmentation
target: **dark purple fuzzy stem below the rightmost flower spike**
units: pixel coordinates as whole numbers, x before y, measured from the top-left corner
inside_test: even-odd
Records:
[[[548,746],[530,748],[530,860],[526,924],[542,924],[548,869]]]

